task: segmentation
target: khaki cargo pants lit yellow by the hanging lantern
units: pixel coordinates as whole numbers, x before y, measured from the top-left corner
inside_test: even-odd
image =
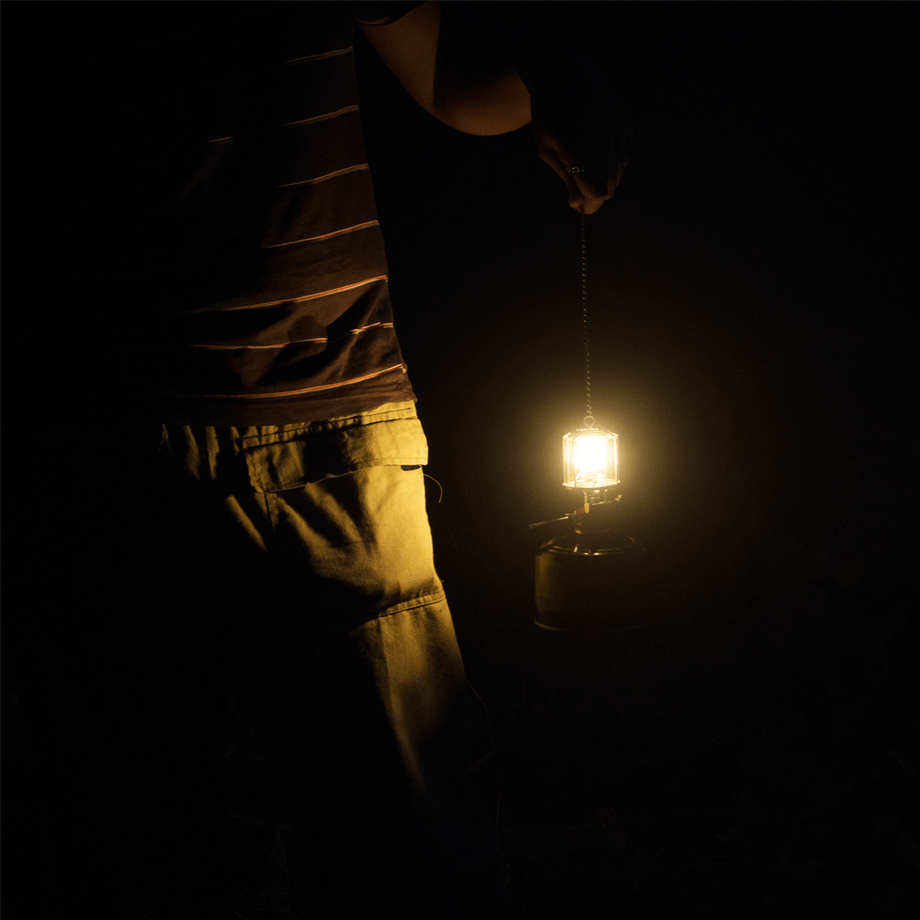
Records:
[[[150,915],[512,915],[466,785],[413,404],[165,426],[161,453],[152,588],[120,644],[116,824]]]

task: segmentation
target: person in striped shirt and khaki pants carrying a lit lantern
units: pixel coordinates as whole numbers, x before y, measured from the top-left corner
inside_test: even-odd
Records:
[[[162,433],[109,645],[100,858],[148,916],[513,916],[466,785],[354,29],[456,130],[531,123],[581,213],[614,195],[627,118],[577,49],[466,4],[124,6],[110,296]]]

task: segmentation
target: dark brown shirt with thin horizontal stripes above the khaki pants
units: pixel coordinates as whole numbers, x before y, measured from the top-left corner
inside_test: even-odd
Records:
[[[136,6],[173,14],[131,68],[162,419],[291,424],[414,399],[362,142],[356,5]]]

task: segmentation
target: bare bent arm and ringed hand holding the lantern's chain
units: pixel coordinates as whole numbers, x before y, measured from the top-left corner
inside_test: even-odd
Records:
[[[515,48],[465,6],[430,0],[362,29],[408,94],[452,128],[502,134],[531,121],[537,152],[565,182],[571,207],[597,211],[613,197],[631,136],[610,87],[577,50]]]

